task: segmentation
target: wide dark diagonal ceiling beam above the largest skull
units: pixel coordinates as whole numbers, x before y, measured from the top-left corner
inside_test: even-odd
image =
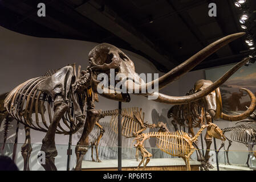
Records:
[[[117,37],[123,39],[134,49],[141,51],[153,60],[156,60],[167,70],[178,64],[172,56],[153,44],[151,40],[146,38],[145,35],[136,30],[131,24],[121,19],[108,6],[105,5],[103,8],[99,3],[90,1],[76,8],[76,11],[99,24],[99,26],[105,28],[109,32],[112,32],[112,34]]]

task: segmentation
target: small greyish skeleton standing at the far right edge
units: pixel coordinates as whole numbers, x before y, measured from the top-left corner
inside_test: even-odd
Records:
[[[252,147],[254,146],[254,144],[256,144],[256,131],[250,125],[242,124],[242,125],[237,125],[233,127],[226,127],[225,129],[221,129],[221,130],[223,131],[223,133],[231,132],[230,139],[226,137],[226,139],[229,141],[229,146],[227,147],[227,150],[226,150],[227,163],[229,165],[231,164],[229,162],[228,152],[233,141],[245,144],[248,147],[249,152],[250,152],[249,144]],[[221,144],[221,147],[219,148],[218,151],[220,151],[222,147],[224,147],[224,143]],[[248,167],[249,167],[249,158],[250,158],[250,154],[248,154],[248,158],[246,161],[246,164]]]

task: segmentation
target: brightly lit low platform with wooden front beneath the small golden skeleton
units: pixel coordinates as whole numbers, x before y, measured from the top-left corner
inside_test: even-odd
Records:
[[[196,160],[190,160],[190,167],[192,171],[198,171],[200,162]],[[136,159],[123,159],[122,170],[133,171],[139,162]],[[82,162],[83,171],[117,171],[117,159],[113,160],[101,160],[101,163],[92,161]],[[141,164],[140,170],[143,170],[143,164]],[[151,159],[146,169],[147,171],[186,171],[185,162],[181,158],[167,158],[167,159]]]

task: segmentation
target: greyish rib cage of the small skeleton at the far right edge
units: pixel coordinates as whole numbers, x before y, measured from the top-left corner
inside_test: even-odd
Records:
[[[252,131],[254,129],[249,125],[238,125],[234,127],[227,127],[225,129],[222,129],[222,131],[228,132],[231,131],[230,138],[234,140],[235,142],[243,143],[243,144],[249,144],[249,143],[255,143]],[[251,135],[249,135],[247,132],[249,132]]]

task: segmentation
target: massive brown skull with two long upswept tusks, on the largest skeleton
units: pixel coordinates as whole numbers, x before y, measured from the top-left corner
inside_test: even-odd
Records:
[[[219,80],[214,82],[213,84],[209,85],[206,89],[198,92],[196,94],[192,94],[189,96],[183,97],[173,97],[167,96],[165,94],[161,94],[159,92],[146,92],[142,93],[141,90],[148,90],[148,88],[152,88],[152,85],[156,81],[159,83],[159,90],[164,88],[166,85],[170,84],[173,81],[176,81],[182,75],[189,72],[191,69],[196,67],[197,64],[201,63],[206,57],[211,55],[212,53],[216,52],[221,47],[225,46],[227,43],[241,37],[244,33],[238,33],[226,36],[216,42],[210,44],[208,47],[202,49],[200,52],[196,53],[196,55],[190,57],[184,63],[178,65],[176,68],[173,68],[171,71],[166,73],[164,76],[157,78],[151,82],[145,83],[139,75],[135,72],[135,66],[133,61],[129,59],[127,55],[120,49],[111,44],[102,43],[93,48],[89,53],[89,61],[90,67],[92,69],[91,73],[91,85],[92,90],[97,92],[97,86],[100,80],[97,80],[97,76],[100,73],[105,73],[110,76],[109,69],[115,69],[115,73],[123,74],[120,77],[120,80],[123,81],[123,86],[127,92],[132,92],[133,94],[139,94],[142,96],[156,96],[157,102],[162,102],[165,104],[188,104],[189,102],[200,100],[202,97],[205,97],[207,94],[212,92],[213,90],[217,89],[218,86],[223,84],[227,78],[229,78],[237,69],[242,67],[248,61],[248,59],[242,60],[240,63],[235,65],[233,69],[227,72],[224,76],[222,76]],[[133,79],[129,77],[129,74],[133,75]],[[107,97],[111,100],[129,102],[130,97],[127,92],[125,93],[117,93],[113,89],[113,84],[108,84],[107,88],[104,87],[104,92],[99,93],[103,97]]]

